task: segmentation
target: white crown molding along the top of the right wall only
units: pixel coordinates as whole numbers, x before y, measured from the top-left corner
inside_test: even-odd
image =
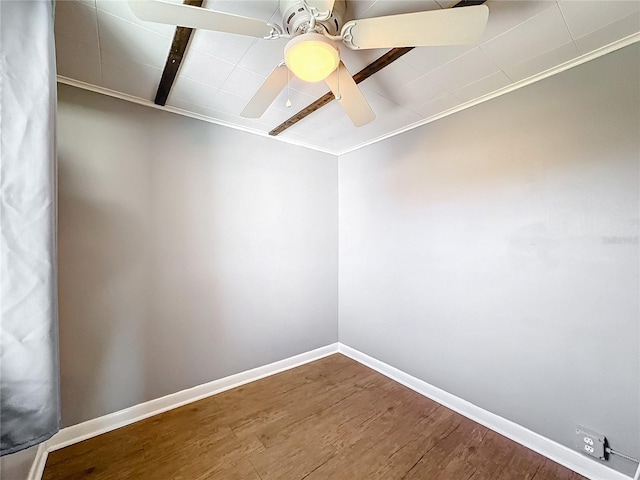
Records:
[[[611,52],[615,52],[616,50],[620,50],[621,48],[624,47],[628,47],[629,45],[632,45],[634,43],[638,43],[640,42],[640,32],[639,33],[634,33],[633,35],[629,35],[628,37],[622,38],[620,40],[617,40],[613,43],[610,43],[609,45],[606,45],[604,47],[601,47],[597,50],[594,50],[593,52],[590,53],[586,53],[584,55],[581,55],[579,57],[574,58],[573,60],[569,60],[568,62],[562,63],[560,65],[557,65],[553,68],[550,68],[548,70],[545,70],[544,72],[540,72],[536,75],[533,75],[531,77],[525,78],[523,80],[520,80],[518,82],[512,83],[511,85],[508,85],[504,88],[501,88],[499,90],[496,90],[494,92],[488,93],[482,97],[476,98],[475,100],[471,100],[469,102],[460,104],[456,107],[450,108],[449,110],[445,110],[444,112],[440,112],[436,115],[433,115],[429,118],[425,118],[424,120],[420,120],[419,122],[415,122],[412,123],[410,125],[407,125],[405,127],[402,127],[398,130],[394,130],[393,132],[389,132],[385,135],[382,135],[378,138],[375,138],[373,140],[369,140],[367,142],[364,143],[360,143],[358,145],[355,145],[353,147],[349,147],[345,150],[341,150],[340,152],[338,152],[338,156],[340,155],[344,155],[346,153],[350,153],[353,152],[355,150],[358,150],[360,148],[372,145],[374,143],[380,142],[382,140],[385,140],[387,138],[390,137],[394,137],[396,135],[400,135],[401,133],[404,132],[408,132],[409,130],[413,130],[414,128],[418,128],[421,127],[422,125],[426,125],[427,123],[431,123],[431,122],[435,122],[436,120],[439,120],[441,118],[444,117],[448,117],[449,115],[452,115],[454,113],[457,113],[461,110],[466,110],[467,108],[471,108],[475,105],[478,105],[480,103],[484,103],[488,100],[491,100],[493,98],[496,97],[500,97],[502,95],[505,95],[507,93],[513,92],[515,90],[518,90],[522,87],[526,87],[527,85],[531,85],[532,83],[536,83],[539,82],[540,80],[544,80],[545,78],[548,77],[552,77],[553,75],[556,75],[558,73],[562,73],[565,70],[569,70],[573,67],[577,67],[578,65],[582,65],[583,63],[589,62],[591,60],[595,60],[598,57],[602,57],[603,55],[606,55],[608,53]]]

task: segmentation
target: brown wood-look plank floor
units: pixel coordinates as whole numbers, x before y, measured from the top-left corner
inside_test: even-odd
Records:
[[[44,480],[578,480],[343,356],[49,454]]]

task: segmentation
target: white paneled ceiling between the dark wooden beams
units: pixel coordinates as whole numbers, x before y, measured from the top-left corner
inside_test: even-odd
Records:
[[[433,10],[455,3],[350,0],[348,17]],[[606,51],[603,47],[640,39],[639,0],[489,0],[486,5],[489,22],[478,45],[416,48],[360,84],[377,116],[371,124],[354,127],[333,101],[276,138],[343,153],[474,104],[488,94],[510,91],[543,77],[541,72],[560,71],[594,56],[593,52]],[[281,23],[277,0],[206,0],[204,7]],[[60,81],[152,104],[174,27],[138,20],[124,0],[58,0],[55,27]],[[285,106],[285,89],[262,118],[239,116],[282,59],[285,44],[284,39],[195,31],[167,106],[267,134],[328,91],[324,83],[294,78],[291,108]],[[386,51],[340,50],[352,74]]]

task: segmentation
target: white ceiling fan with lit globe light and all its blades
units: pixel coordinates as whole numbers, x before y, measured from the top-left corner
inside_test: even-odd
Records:
[[[284,60],[269,74],[241,112],[258,118],[289,81],[289,72],[323,81],[357,127],[375,119],[373,110],[340,60],[336,42],[350,49],[464,45],[476,42],[487,23],[485,5],[429,10],[343,22],[345,0],[280,0],[282,26],[254,18],[162,0],[130,0],[141,20],[264,39],[290,39]]]

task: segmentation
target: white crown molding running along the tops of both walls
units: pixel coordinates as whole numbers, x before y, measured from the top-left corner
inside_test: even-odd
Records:
[[[335,156],[341,156],[341,155],[345,155],[347,153],[353,152],[355,150],[358,150],[360,148],[364,148],[367,147],[369,145],[372,145],[374,143],[380,142],[382,140],[385,140],[387,138],[390,137],[394,137],[396,135],[400,135],[401,133],[407,132],[409,130],[413,130],[414,128],[418,128],[421,127],[422,125],[426,125],[428,123],[431,122],[435,122],[436,120],[439,120],[441,118],[447,117],[449,115],[452,115],[454,113],[457,113],[461,110],[465,110],[467,108],[473,107],[475,105],[478,105],[480,103],[486,102],[487,100],[491,100],[493,98],[499,97],[501,95],[505,95],[509,92],[513,92],[514,90],[518,90],[519,88],[522,87],[526,87],[527,85],[530,85],[532,83],[538,82],[540,80],[544,80],[545,78],[551,77],[553,75],[556,75],[558,73],[564,72],[565,70],[569,70],[573,67],[577,67],[578,65],[582,65],[583,63],[586,63],[588,61],[591,60],[595,60],[598,57],[601,57],[603,55],[606,55],[608,53],[611,52],[615,52],[616,50],[620,50],[621,48],[627,47],[629,45],[632,45],[634,43],[638,43],[640,42],[640,33],[634,33],[633,35],[629,35],[628,37],[625,37],[623,39],[617,40],[609,45],[606,45],[602,48],[599,48],[597,50],[594,50],[593,52],[581,55],[580,57],[574,58],[573,60],[570,60],[568,62],[565,62],[561,65],[558,65],[556,67],[550,68],[549,70],[546,70],[544,72],[541,72],[537,75],[533,75],[529,78],[525,78],[524,80],[520,80],[519,82],[516,82],[514,84],[511,84],[505,88],[502,88],[500,90],[496,90],[495,92],[489,93],[483,97],[480,97],[476,100],[472,100],[470,102],[467,103],[463,103],[461,105],[458,105],[457,107],[451,108],[449,110],[446,110],[444,112],[441,112],[437,115],[433,115],[429,118],[426,118],[424,120],[421,120],[419,122],[416,123],[412,123],[410,125],[407,125],[406,127],[403,127],[401,129],[395,130],[393,132],[390,132],[386,135],[382,135],[380,137],[377,137],[373,140],[358,144],[358,145],[354,145],[353,147],[349,147],[346,148],[344,150],[329,150],[326,148],[321,148],[321,147],[317,147],[315,145],[307,145],[305,143],[302,142],[298,142],[295,141],[293,139],[289,139],[286,137],[281,137],[281,136],[277,136],[277,137],[273,137],[270,136],[267,132],[262,132],[259,130],[253,130],[249,127],[244,127],[241,125],[235,125],[232,123],[228,123],[225,122],[223,120],[218,120],[218,119],[214,119],[211,117],[207,117],[205,115],[201,115],[198,113],[194,113],[194,112],[187,112],[186,110],[181,110],[179,108],[176,107],[171,107],[171,106],[160,106],[160,105],[156,105],[153,102],[151,102],[150,100],[145,100],[139,97],[134,97],[133,95],[127,95],[124,93],[120,93],[120,92],[116,92],[115,90],[110,90],[108,88],[105,87],[99,87],[96,85],[91,85],[89,83],[85,83],[85,82],[81,82],[79,80],[74,80],[72,78],[68,78],[68,77],[64,77],[62,75],[58,75],[57,76],[57,80],[58,83],[62,83],[65,85],[70,85],[72,87],[77,87],[77,88],[81,88],[83,90],[89,90],[91,92],[95,92],[95,93],[100,93],[102,95],[107,95],[109,97],[113,97],[113,98],[118,98],[120,100],[125,100],[127,102],[132,102],[132,103],[137,103],[138,105],[143,105],[145,107],[151,107],[151,108],[155,108],[158,110],[164,110],[164,111],[168,111],[171,113],[175,113],[178,115],[183,115],[185,117],[190,117],[190,118],[195,118],[196,120],[202,120],[208,123],[213,123],[215,125],[221,125],[223,127],[229,127],[229,128],[233,128],[234,130],[240,130],[243,132],[247,132],[247,133],[252,133],[254,135],[259,135],[261,137],[265,137],[265,138],[271,138],[273,140],[279,141],[279,142],[283,142],[283,143],[287,143],[290,145],[295,145],[298,147],[304,147],[304,148],[308,148],[310,150],[315,150],[318,152],[323,152],[323,153],[328,153],[330,155],[335,155]]]

